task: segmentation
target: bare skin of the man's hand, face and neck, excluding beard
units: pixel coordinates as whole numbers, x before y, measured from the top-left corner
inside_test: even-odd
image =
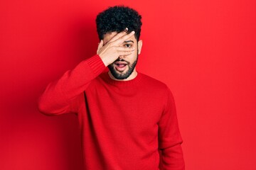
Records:
[[[102,62],[107,67],[110,64],[114,64],[117,59],[122,59],[124,62],[132,64],[137,60],[137,55],[139,55],[141,51],[142,40],[137,41],[134,36],[134,31],[129,34],[127,34],[127,31],[123,31],[121,33],[112,32],[105,34],[103,40],[101,40],[98,45],[97,55],[100,56]],[[127,70],[128,66],[126,66],[122,72],[115,69],[118,74],[124,74]],[[111,79],[117,81],[128,81],[137,77],[136,67],[127,79],[115,79],[111,72],[108,74]]]

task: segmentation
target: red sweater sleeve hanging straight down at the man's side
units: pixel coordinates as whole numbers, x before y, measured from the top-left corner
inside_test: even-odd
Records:
[[[159,150],[161,155],[161,170],[184,170],[183,142],[178,128],[174,97],[168,89],[168,99],[164,112],[159,120]]]

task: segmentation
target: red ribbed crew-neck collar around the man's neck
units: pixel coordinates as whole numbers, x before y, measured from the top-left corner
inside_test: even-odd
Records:
[[[142,73],[137,72],[137,76],[134,79],[127,80],[127,81],[117,81],[110,78],[110,75],[108,72],[103,72],[100,74],[100,77],[107,83],[112,84],[114,86],[134,86],[137,84],[140,84],[140,81],[142,80]]]

